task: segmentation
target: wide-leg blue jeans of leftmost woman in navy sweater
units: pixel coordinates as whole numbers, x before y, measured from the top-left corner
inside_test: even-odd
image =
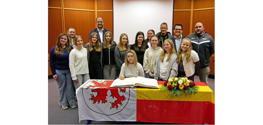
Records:
[[[72,106],[75,104],[73,81],[70,70],[57,70],[57,85],[59,92],[59,105]]]

